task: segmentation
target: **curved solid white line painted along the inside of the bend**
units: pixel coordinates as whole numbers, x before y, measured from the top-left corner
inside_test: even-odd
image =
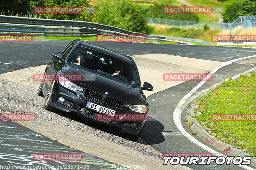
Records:
[[[223,64],[221,64],[220,66],[216,67],[214,70],[212,70],[210,72],[210,74],[214,74],[217,70],[219,70],[221,67],[224,67],[228,64],[231,64],[233,62],[236,62],[236,61],[239,61],[239,60],[244,60],[244,59],[248,59],[248,58],[252,58],[252,57],[256,57],[256,55],[252,55],[252,56],[248,56],[248,57],[243,57],[243,58],[240,58],[240,59],[235,59],[235,60],[230,60],[230,61],[227,61]],[[191,142],[193,142],[195,145],[198,145],[199,147],[201,147],[202,149],[204,149],[205,151],[207,152],[210,152],[214,155],[217,155],[217,156],[224,156],[226,157],[225,155],[221,154],[220,152],[217,152],[215,150],[213,150],[212,148],[202,144],[201,142],[199,142],[197,139],[195,139],[193,136],[191,136],[187,131],[185,131],[185,129],[182,127],[181,125],[181,122],[180,122],[180,118],[181,118],[181,112],[182,110],[184,109],[185,107],[185,103],[187,101],[187,99],[193,95],[193,93],[199,89],[203,84],[204,84],[205,81],[201,81],[199,84],[196,85],[196,87],[194,87],[186,96],[184,96],[179,104],[177,105],[177,107],[175,108],[175,110],[173,111],[173,120],[174,120],[174,123],[175,125],[177,126],[177,128],[180,130],[180,132],[186,137],[188,138],[188,140],[190,140]],[[249,166],[246,166],[246,165],[238,165],[244,169],[247,169],[247,170],[254,170],[254,168],[251,168]]]

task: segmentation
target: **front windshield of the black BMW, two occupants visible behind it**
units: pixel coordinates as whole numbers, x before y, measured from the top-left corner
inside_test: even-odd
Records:
[[[105,53],[78,46],[68,61],[138,86],[135,66]]]

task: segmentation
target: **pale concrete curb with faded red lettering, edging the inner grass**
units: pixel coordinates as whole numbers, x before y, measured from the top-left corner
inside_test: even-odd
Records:
[[[249,71],[248,71],[249,72]],[[247,73],[248,74],[248,73]],[[234,79],[232,79],[234,80]],[[226,80],[227,81],[227,80]],[[221,82],[222,83],[222,82]],[[198,121],[195,118],[195,113],[194,113],[194,109],[195,109],[195,102],[197,99],[201,98],[202,96],[204,96],[205,94],[209,93],[210,91],[212,91],[212,89],[206,91],[204,94],[198,96],[192,103],[191,105],[188,106],[187,110],[186,110],[186,118],[190,121],[190,122],[194,122],[191,126],[190,129],[192,132],[196,133],[196,136],[198,136],[199,138],[201,138],[202,141],[204,141],[205,143],[207,143],[208,145],[211,145],[212,147],[218,149],[219,151],[229,155],[229,156],[250,156],[249,153],[246,153],[244,151],[241,151],[237,148],[233,148],[231,145],[226,144],[225,142],[222,141],[218,141],[217,138],[215,138],[214,136],[210,135],[210,133],[208,131],[206,131],[201,124],[198,123]],[[251,159],[251,164],[252,166],[256,167],[256,157],[252,157]]]

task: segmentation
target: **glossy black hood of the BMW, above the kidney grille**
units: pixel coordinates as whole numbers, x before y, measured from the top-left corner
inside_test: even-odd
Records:
[[[94,81],[73,81],[76,85],[84,89],[91,89],[101,94],[108,92],[109,97],[129,104],[144,104],[146,101],[146,96],[142,93],[141,87],[126,83],[112,76],[72,63],[67,63],[63,67],[63,71],[65,74],[94,75]]]

